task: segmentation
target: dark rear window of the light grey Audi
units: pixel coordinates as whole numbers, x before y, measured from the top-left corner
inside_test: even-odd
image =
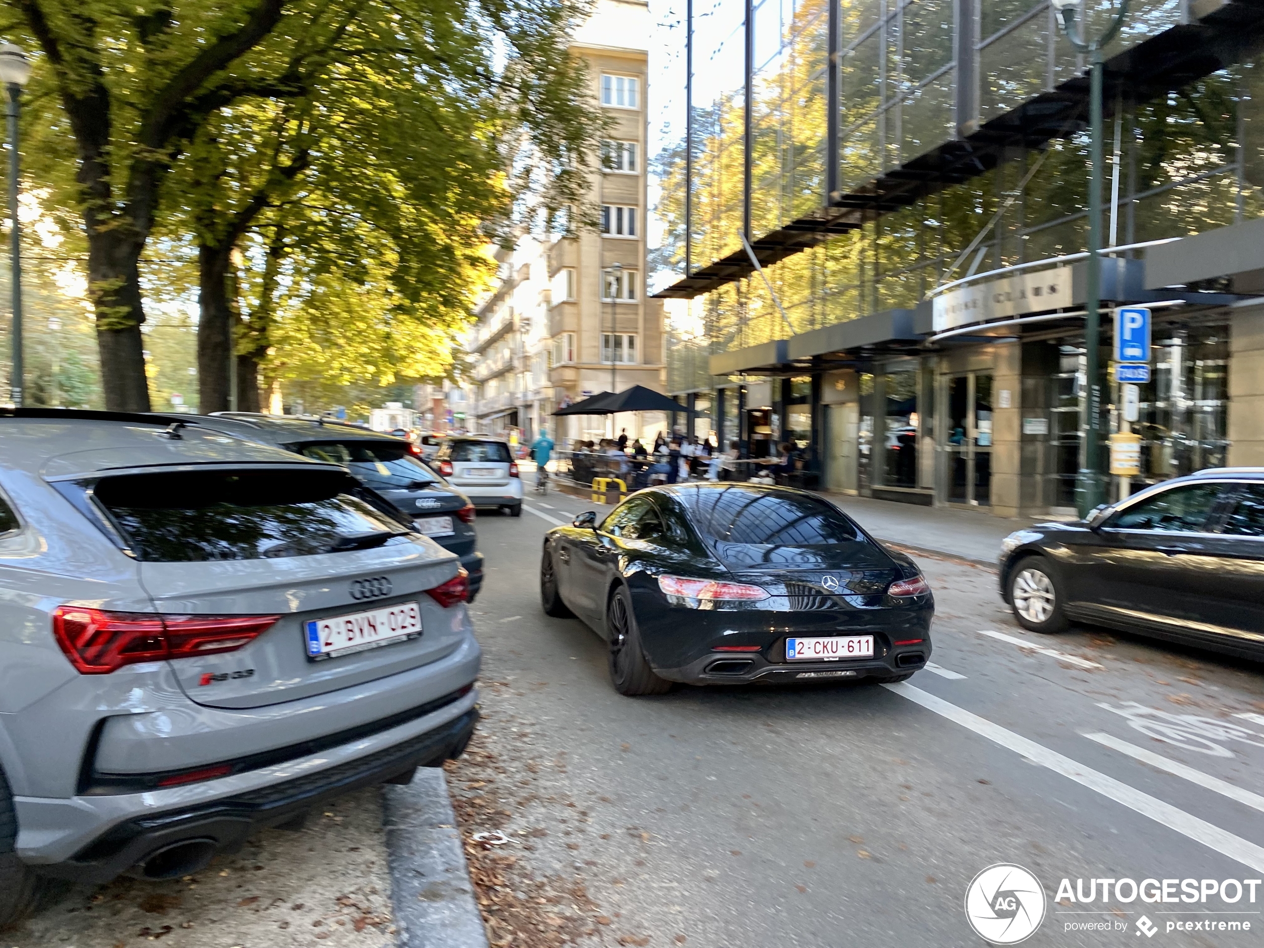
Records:
[[[332,471],[179,471],[102,478],[94,489],[138,559],[259,560],[378,546],[404,528]]]

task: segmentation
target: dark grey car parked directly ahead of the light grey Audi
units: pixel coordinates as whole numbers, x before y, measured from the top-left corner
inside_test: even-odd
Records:
[[[334,421],[246,412],[181,416],[234,437],[274,445],[305,458],[341,464],[365,487],[373,488],[408,514],[445,550],[461,557],[470,574],[470,602],[483,586],[483,554],[478,552],[474,504],[461,490],[421,461],[411,442],[377,431]]]

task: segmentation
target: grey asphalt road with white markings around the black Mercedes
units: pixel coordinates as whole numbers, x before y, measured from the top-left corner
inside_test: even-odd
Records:
[[[600,913],[580,932],[607,944],[977,945],[967,887],[1015,863],[1048,896],[1026,944],[1261,943],[1264,886],[1236,902],[1218,887],[1179,901],[1179,882],[1159,902],[1120,901],[1126,885],[1091,902],[1055,896],[1063,878],[1083,880],[1086,897],[1092,878],[1192,878],[1201,897],[1201,880],[1264,877],[1264,669],[1093,629],[1034,636],[992,573],[923,556],[937,671],[895,686],[622,698],[603,642],[538,604],[546,518],[590,508],[551,494],[528,498],[521,520],[479,518],[493,765],[453,780],[458,798],[499,800],[520,870],[583,882],[595,908],[550,899],[562,915]]]

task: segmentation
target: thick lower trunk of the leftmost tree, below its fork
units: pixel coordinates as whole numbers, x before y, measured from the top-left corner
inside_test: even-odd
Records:
[[[140,324],[145,321],[138,265],[143,248],[143,239],[129,239],[118,230],[88,231],[88,292],[96,313],[106,411],[149,411],[140,335]]]

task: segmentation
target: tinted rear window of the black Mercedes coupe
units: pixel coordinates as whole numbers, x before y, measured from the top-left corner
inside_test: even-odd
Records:
[[[731,568],[890,564],[846,514],[810,494],[729,487],[685,488],[680,497]]]

